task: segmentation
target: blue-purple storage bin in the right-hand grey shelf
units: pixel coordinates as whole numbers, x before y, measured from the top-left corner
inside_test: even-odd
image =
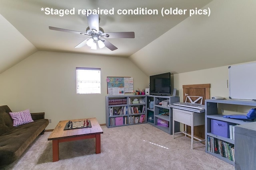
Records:
[[[229,138],[229,125],[236,125],[234,123],[211,119],[211,133],[222,137]]]

